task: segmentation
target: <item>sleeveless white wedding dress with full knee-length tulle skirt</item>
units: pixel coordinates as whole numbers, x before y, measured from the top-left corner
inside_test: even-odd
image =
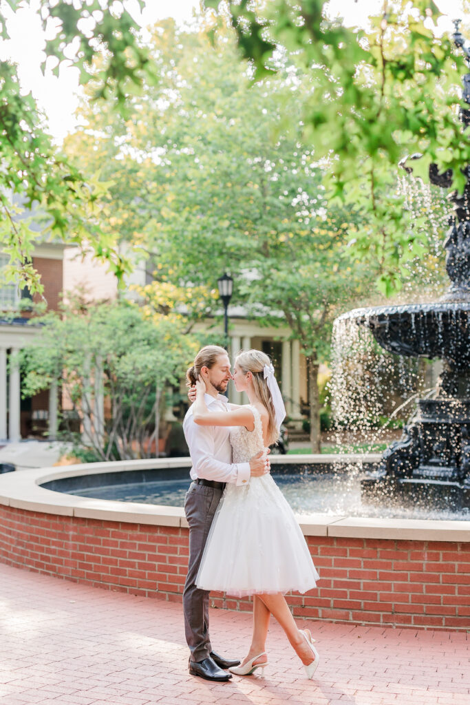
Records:
[[[261,416],[250,405],[254,430],[233,427],[233,462],[264,450]],[[319,575],[294,513],[271,474],[227,484],[209,531],[197,587],[233,596],[307,592]]]

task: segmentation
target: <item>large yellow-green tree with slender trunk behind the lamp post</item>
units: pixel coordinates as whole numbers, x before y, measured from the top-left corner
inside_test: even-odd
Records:
[[[357,216],[328,206],[321,169],[302,145],[297,98],[309,82],[286,64],[250,87],[232,33],[212,46],[205,30],[157,26],[159,87],[132,101],[128,121],[110,123],[109,112],[85,106],[87,125],[68,149],[112,176],[110,227],[154,262],[154,282],[142,291],[150,307],[185,305],[190,320],[214,314],[215,281],[228,269],[233,302],[261,326],[290,326],[307,357],[319,450],[317,374],[331,322],[375,273],[347,247]]]

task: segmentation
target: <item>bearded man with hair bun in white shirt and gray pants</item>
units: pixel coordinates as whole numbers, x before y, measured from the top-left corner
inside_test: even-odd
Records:
[[[189,386],[199,376],[206,384],[206,405],[211,411],[229,411],[223,393],[230,373],[230,359],[218,345],[207,345],[197,353],[194,364],[186,373]],[[192,460],[190,489],[185,499],[185,514],[190,527],[190,557],[183,591],[185,634],[190,647],[190,673],[206,680],[227,681],[232,678],[224,668],[237,666],[240,661],[223,658],[212,651],[209,639],[209,591],[196,587],[206,539],[226,482],[246,484],[250,477],[269,472],[269,461],[261,453],[249,462],[232,463],[230,427],[198,426],[192,418],[192,407],[183,422],[185,438]]]

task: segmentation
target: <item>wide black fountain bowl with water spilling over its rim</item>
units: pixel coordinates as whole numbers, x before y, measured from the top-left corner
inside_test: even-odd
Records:
[[[390,353],[443,358],[455,371],[470,367],[470,302],[360,308],[338,318],[348,320],[369,328]]]

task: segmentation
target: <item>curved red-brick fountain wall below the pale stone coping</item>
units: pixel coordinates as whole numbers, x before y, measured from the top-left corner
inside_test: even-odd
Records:
[[[306,537],[321,580],[289,594],[297,617],[359,625],[470,629],[470,544]],[[188,530],[0,505],[0,560],[130,594],[181,601]],[[249,599],[211,594],[220,608]]]

